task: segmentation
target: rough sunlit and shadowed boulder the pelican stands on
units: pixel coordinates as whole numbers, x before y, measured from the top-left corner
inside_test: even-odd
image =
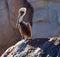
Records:
[[[1,57],[60,57],[60,38],[50,38],[42,44],[40,41],[21,40],[8,48]]]

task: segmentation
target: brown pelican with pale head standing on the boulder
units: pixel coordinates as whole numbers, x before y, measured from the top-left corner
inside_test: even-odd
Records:
[[[31,38],[31,25],[30,23],[23,21],[23,17],[26,15],[26,10],[27,9],[24,7],[19,9],[17,25],[21,36],[24,39],[29,40]]]

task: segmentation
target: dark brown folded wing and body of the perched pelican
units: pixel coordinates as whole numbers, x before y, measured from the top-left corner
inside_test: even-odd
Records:
[[[25,36],[25,38],[31,37],[31,25],[30,24],[23,24],[20,26],[20,33],[22,36]]]

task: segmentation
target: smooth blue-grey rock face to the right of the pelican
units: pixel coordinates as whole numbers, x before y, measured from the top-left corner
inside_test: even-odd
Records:
[[[32,38],[60,36],[60,1],[27,0],[34,9]]]

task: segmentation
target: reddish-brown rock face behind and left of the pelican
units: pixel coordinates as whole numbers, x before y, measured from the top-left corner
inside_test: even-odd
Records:
[[[16,29],[18,9],[21,7],[27,8],[24,20],[31,23],[30,11],[33,13],[33,10],[26,0],[0,0],[0,55],[21,39],[18,29]]]

